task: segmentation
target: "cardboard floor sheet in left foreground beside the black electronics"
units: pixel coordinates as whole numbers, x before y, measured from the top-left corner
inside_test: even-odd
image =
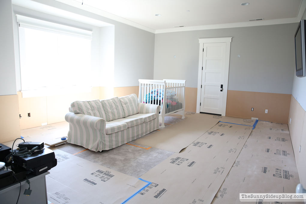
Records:
[[[121,204],[149,183],[54,150],[58,165],[46,176],[48,201],[54,204]]]

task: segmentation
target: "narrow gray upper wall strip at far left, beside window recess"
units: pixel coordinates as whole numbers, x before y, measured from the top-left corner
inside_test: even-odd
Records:
[[[11,0],[1,1],[0,27],[0,95],[14,95],[17,91]]]

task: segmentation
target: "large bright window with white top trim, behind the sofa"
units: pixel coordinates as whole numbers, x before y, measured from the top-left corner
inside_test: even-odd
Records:
[[[25,17],[34,21],[29,25],[21,18],[21,91],[91,86],[91,32]]]

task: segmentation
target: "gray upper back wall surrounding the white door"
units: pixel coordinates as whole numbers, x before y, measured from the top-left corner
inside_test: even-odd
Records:
[[[198,39],[233,37],[229,90],[291,94],[296,27],[293,23],[156,34],[154,79],[186,79],[187,87],[197,87]]]

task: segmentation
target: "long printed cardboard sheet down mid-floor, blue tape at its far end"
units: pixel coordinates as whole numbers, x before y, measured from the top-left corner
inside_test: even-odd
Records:
[[[181,153],[141,176],[153,183],[129,202],[211,203],[251,131],[252,126],[219,122]]]

